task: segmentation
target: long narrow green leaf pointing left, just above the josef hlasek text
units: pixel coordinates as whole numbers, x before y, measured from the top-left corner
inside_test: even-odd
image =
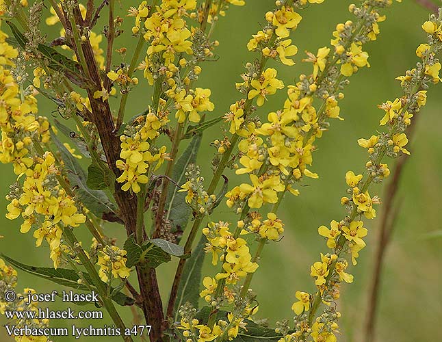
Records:
[[[38,276],[39,278],[43,278],[51,282],[55,282],[58,285],[71,287],[73,289],[81,291],[90,291],[90,289],[86,285],[81,285],[78,283],[79,276],[73,269],[66,269],[66,268],[55,269],[51,267],[29,266],[19,261],[16,261],[10,257],[7,257],[5,254],[0,253],[0,255],[3,259],[5,259],[5,261],[8,261],[8,263],[13,265],[14,267],[21,269],[22,271],[27,272],[29,274]],[[89,274],[82,273],[81,275],[87,282],[89,282],[90,284],[92,283]],[[112,289],[112,291],[113,290],[114,289]],[[135,304],[135,300],[133,300],[133,298],[130,298],[129,296],[125,295],[125,293],[122,293],[120,291],[112,292],[112,300],[114,300],[114,302],[116,302],[121,306],[131,306]]]

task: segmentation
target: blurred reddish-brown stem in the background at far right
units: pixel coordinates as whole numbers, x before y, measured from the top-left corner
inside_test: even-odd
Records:
[[[415,131],[416,120],[419,116],[411,122],[410,127],[408,127],[408,139],[411,140],[413,133]],[[371,276],[372,283],[369,287],[368,296],[368,309],[367,317],[365,319],[365,332],[363,334],[365,342],[374,341],[374,332],[376,328],[376,312],[378,309],[378,298],[379,298],[379,286],[382,276],[382,266],[385,258],[385,251],[389,245],[391,233],[393,233],[394,225],[398,212],[400,209],[399,205],[395,206],[395,198],[398,193],[399,183],[404,170],[404,165],[406,163],[407,155],[402,155],[399,157],[398,162],[393,170],[393,179],[391,179],[387,189],[387,198],[385,199],[384,209],[382,211],[382,216],[380,218],[380,228],[378,230],[378,241],[376,244],[376,254],[374,259],[374,269]]]

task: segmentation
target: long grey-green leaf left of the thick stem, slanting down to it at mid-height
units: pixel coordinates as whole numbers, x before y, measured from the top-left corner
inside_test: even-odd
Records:
[[[53,132],[51,132],[51,138],[62,155],[70,185],[76,188],[75,192],[83,205],[99,218],[116,216],[116,206],[107,198],[106,194],[101,190],[90,189],[86,185],[88,175],[81,168],[77,159],[69,153]]]

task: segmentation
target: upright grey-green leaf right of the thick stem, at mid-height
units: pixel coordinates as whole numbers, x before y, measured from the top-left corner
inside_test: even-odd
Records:
[[[172,179],[182,185],[185,183],[185,171],[187,166],[196,162],[196,156],[201,144],[201,135],[195,135],[189,146],[184,150],[183,155],[179,157],[172,171]],[[185,192],[179,192],[179,187],[170,186],[168,192],[168,201],[166,202],[166,220],[172,225],[171,231],[177,235],[179,241],[182,231],[187,226],[192,209],[185,202]]]

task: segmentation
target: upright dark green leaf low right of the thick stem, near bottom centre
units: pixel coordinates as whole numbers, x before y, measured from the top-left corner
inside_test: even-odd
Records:
[[[177,300],[175,302],[175,321],[178,320],[179,307],[185,304],[185,302],[190,302],[194,308],[198,309],[206,241],[205,235],[202,235],[198,245],[192,250],[190,259],[184,265],[183,276],[179,283]]]

